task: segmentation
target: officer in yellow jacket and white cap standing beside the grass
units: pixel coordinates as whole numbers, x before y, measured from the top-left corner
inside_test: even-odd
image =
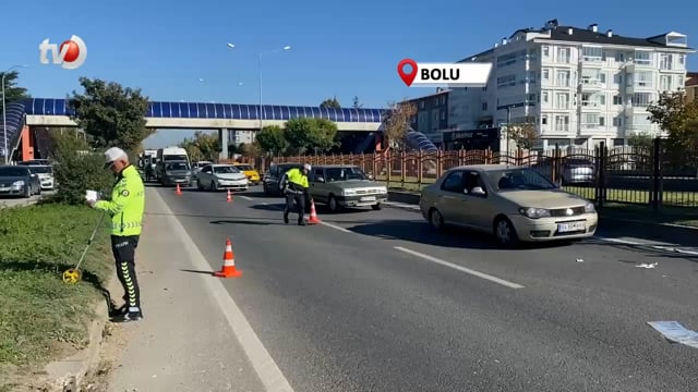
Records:
[[[123,286],[125,302],[117,315],[113,315],[112,321],[137,321],[143,319],[143,311],[134,264],[145,210],[145,187],[141,174],[129,163],[129,156],[124,150],[118,147],[109,148],[105,158],[105,169],[110,169],[117,177],[111,198],[89,201],[89,205],[111,216],[111,252],[117,262],[117,275]]]

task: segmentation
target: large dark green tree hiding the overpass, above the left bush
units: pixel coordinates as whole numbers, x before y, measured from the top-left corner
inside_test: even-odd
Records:
[[[119,146],[133,154],[155,132],[145,127],[148,98],[141,89],[87,77],[81,77],[80,84],[85,91],[73,91],[69,98],[75,110],[71,119],[93,136],[96,147]]]

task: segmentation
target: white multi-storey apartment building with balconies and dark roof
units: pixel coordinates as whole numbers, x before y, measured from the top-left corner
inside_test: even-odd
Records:
[[[647,107],[662,90],[684,87],[691,52],[687,37],[675,32],[631,38],[556,20],[519,29],[461,60],[494,66],[486,87],[453,89],[448,126],[496,127],[510,119],[534,123],[544,149],[622,146],[635,133],[659,133]]]

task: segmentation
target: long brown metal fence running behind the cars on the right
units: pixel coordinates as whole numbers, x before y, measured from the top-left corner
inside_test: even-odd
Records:
[[[691,161],[694,163],[691,164]],[[366,154],[341,156],[275,157],[257,159],[255,167],[266,171],[281,162],[354,164],[389,186],[420,189],[433,183],[444,171],[464,164],[509,163],[530,167],[565,191],[606,203],[698,207],[697,160],[667,151],[662,140],[646,148],[594,149],[559,148],[547,151],[457,150],[436,152]]]

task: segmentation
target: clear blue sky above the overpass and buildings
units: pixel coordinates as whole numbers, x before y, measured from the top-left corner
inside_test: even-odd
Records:
[[[614,3],[617,3],[614,4]],[[94,0],[3,1],[0,69],[27,64],[19,84],[34,97],[82,93],[80,76],[141,88],[152,100],[252,103],[260,100],[260,52],[264,105],[316,106],[337,97],[364,108],[414,98],[433,88],[408,88],[397,63],[453,62],[491,48],[518,28],[561,25],[624,36],[670,30],[698,47],[695,0],[657,5],[648,0],[589,3],[501,0]],[[659,8],[659,9],[658,9]],[[693,11],[690,11],[693,10]],[[39,63],[45,38],[77,35],[87,46],[77,70]],[[696,39],[694,42],[693,39]],[[236,46],[230,49],[226,44]],[[696,54],[689,70],[698,70]],[[202,81],[203,79],[203,81]],[[164,130],[148,147],[174,144],[193,132]]]

